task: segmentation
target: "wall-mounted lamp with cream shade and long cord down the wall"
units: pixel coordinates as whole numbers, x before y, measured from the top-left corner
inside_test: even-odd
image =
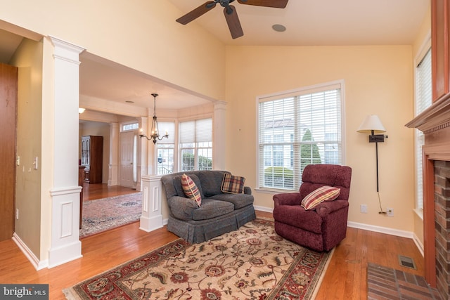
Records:
[[[385,141],[384,133],[386,132],[385,126],[381,124],[380,118],[378,118],[377,115],[368,115],[366,119],[359,125],[359,128],[357,130],[361,133],[368,133],[368,142],[369,143],[375,143],[375,155],[376,155],[376,164],[377,164],[377,193],[378,193],[378,201],[380,202],[380,214],[387,214],[387,211],[383,211],[383,208],[381,207],[381,201],[380,201],[380,193],[378,188],[378,143],[383,143]]]

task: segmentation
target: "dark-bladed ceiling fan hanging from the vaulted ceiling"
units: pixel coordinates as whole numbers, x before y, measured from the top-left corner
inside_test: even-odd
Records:
[[[242,37],[244,32],[242,27],[240,27],[240,22],[238,18],[238,13],[236,13],[236,8],[231,4],[234,0],[214,0],[214,1],[206,1],[204,4],[198,6],[198,8],[193,9],[193,11],[186,13],[181,18],[176,19],[176,22],[179,22],[183,25],[188,24],[210,11],[212,8],[216,6],[216,4],[220,4],[220,6],[224,7],[224,15],[226,19],[226,23],[228,24],[231,37],[233,39],[237,39],[238,37]],[[288,4],[288,0],[238,0],[240,4],[248,4],[255,6],[266,6],[266,7],[274,7],[274,8],[285,8]]]

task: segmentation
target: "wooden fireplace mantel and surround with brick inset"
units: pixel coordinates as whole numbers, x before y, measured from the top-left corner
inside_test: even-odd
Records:
[[[450,94],[406,124],[425,133],[423,225],[425,280],[450,299]]]

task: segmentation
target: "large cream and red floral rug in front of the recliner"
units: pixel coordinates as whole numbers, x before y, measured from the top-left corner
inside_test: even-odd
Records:
[[[332,252],[256,219],[201,244],[175,240],[63,290],[67,299],[314,299]]]

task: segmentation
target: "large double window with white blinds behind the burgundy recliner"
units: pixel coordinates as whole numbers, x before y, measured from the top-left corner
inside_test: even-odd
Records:
[[[262,96],[258,187],[297,190],[308,164],[342,164],[343,81]]]

